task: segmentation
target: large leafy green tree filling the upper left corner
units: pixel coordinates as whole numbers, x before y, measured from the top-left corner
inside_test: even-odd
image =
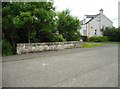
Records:
[[[12,44],[50,41],[56,32],[52,2],[4,2],[2,10],[3,33]]]

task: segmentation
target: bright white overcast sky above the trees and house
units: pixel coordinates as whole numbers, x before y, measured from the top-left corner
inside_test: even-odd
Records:
[[[120,0],[54,0],[56,11],[69,9],[80,20],[84,15],[95,15],[102,8],[103,14],[118,27],[118,2]]]

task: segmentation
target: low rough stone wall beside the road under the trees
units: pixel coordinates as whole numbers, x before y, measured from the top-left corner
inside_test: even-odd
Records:
[[[80,48],[81,46],[82,46],[82,41],[21,43],[21,44],[17,44],[17,54]]]

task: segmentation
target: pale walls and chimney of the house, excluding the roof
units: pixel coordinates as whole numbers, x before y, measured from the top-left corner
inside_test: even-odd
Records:
[[[101,29],[103,27],[112,27],[113,22],[110,21],[104,14],[103,11],[100,11],[100,15],[95,17],[89,23],[82,25],[81,34],[85,36],[84,32],[86,30],[86,36],[102,36]]]

